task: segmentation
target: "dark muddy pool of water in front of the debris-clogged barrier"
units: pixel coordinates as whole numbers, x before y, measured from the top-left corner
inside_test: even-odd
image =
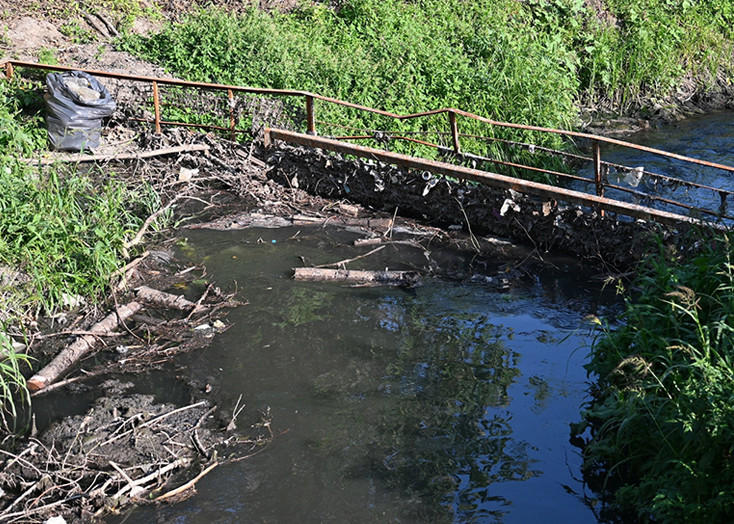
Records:
[[[215,469],[188,501],[110,522],[597,521],[569,423],[587,387],[583,318],[609,312],[609,290],[567,260],[505,282],[499,263],[436,246],[428,256],[389,246],[350,269],[432,266],[465,278],[407,290],[291,278],[300,257],[323,264],[368,251],[351,245],[356,237],[186,233],[179,256],[204,263],[220,286],[237,282],[248,304],[185,373],[210,384],[228,413],[242,395],[241,434],[269,413],[276,437]]]

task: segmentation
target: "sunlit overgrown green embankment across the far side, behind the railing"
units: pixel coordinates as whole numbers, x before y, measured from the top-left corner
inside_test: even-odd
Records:
[[[726,89],[732,27],[727,0],[348,0],[194,10],[124,47],[192,80],[568,129]]]

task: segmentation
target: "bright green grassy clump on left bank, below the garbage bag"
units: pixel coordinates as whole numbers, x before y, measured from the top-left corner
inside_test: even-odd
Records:
[[[0,172],[0,262],[32,278],[27,298],[47,310],[65,296],[98,296],[141,224],[128,210],[131,196],[114,179],[95,188],[75,172],[6,167]]]

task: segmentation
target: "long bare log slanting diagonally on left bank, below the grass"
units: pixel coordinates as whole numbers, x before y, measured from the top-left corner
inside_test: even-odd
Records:
[[[99,335],[109,333],[142,308],[143,305],[139,302],[130,302],[127,305],[120,306],[117,308],[117,311],[110,313],[93,325],[89,329],[89,332]],[[39,391],[56,381],[79,362],[82,357],[89,353],[98,340],[99,337],[95,335],[84,335],[77,338],[73,343],[66,346],[61,353],[56,355],[56,358],[49,362],[46,367],[28,380],[28,389],[31,392]]]

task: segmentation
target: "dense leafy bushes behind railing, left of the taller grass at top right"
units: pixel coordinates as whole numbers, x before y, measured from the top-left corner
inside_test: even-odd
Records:
[[[309,90],[397,113],[458,107],[501,120],[570,127],[577,90],[570,62],[553,59],[559,44],[532,28],[524,31],[528,22],[510,0],[352,0],[338,10],[304,4],[291,14],[200,10],[150,38],[127,35],[122,46],[192,80]],[[400,122],[323,102],[316,114],[320,122],[358,133],[435,139],[439,131],[438,140],[450,140],[446,115]],[[322,133],[340,131],[320,126]],[[465,119],[460,126],[467,134],[560,145],[552,135]],[[472,145],[476,153],[490,150]],[[391,144],[404,152],[416,147]],[[515,159],[512,151],[493,147],[493,155]]]

